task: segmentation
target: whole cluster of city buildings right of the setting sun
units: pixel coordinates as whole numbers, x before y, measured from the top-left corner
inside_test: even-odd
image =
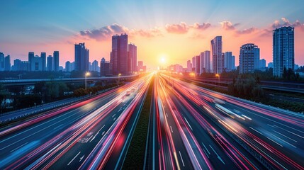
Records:
[[[201,52],[200,55],[188,60],[186,68],[175,64],[168,67],[171,72],[188,72],[194,74],[214,73],[221,74],[236,69],[235,56],[232,52],[223,52],[222,36],[210,40],[210,51]],[[266,60],[260,59],[260,49],[254,43],[246,43],[240,47],[239,69],[240,74],[253,73],[255,70],[265,71],[273,69],[273,75],[282,77],[284,68],[296,69],[294,53],[294,28],[283,26],[273,30],[273,62],[266,66]]]

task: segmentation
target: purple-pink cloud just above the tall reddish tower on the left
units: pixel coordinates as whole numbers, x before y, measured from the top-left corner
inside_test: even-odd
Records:
[[[113,23],[111,26],[104,26],[99,29],[93,30],[81,30],[80,35],[84,37],[89,37],[95,40],[106,40],[111,38],[114,34],[127,33],[128,28],[120,26],[117,23]]]

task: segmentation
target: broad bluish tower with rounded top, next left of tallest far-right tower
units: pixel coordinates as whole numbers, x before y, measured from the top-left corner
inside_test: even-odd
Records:
[[[240,47],[240,73],[253,73],[257,66],[259,66],[257,58],[259,58],[259,47],[257,45],[242,45]]]

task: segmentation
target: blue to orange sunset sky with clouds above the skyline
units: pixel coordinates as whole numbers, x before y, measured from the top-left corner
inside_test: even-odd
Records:
[[[111,36],[128,33],[137,45],[137,61],[149,69],[181,64],[210,50],[223,37],[223,52],[236,65],[240,46],[254,43],[260,58],[272,62],[272,30],[295,27],[295,63],[304,65],[304,1],[1,1],[0,52],[11,60],[60,51],[60,65],[74,62],[74,44],[85,42],[90,62],[110,60]],[[165,63],[160,60],[165,58]],[[13,64],[13,61],[11,61]]]

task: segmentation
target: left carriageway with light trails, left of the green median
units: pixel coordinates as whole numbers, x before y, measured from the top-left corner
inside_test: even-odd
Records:
[[[140,108],[137,106],[145,98],[150,79],[151,76],[137,79],[89,100],[1,130],[0,169],[47,169],[64,167],[64,164],[72,169],[104,166],[96,159],[101,157],[106,163],[105,158],[111,155],[113,148],[125,143],[126,139],[118,139],[128,123],[133,122],[130,118],[138,117]],[[130,128],[126,131],[132,132]],[[78,149],[83,150],[78,152]],[[95,154],[100,149],[103,152]],[[79,153],[82,162],[74,161],[74,152]],[[86,159],[96,164],[82,164]]]

